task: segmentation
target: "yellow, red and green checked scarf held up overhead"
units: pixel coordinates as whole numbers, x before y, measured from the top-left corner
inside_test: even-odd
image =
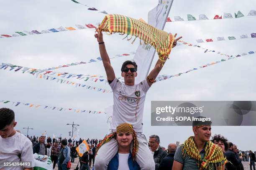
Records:
[[[161,62],[165,62],[164,57],[169,56],[174,42],[174,36],[171,33],[158,30],[140,20],[119,14],[106,15],[98,29],[99,31],[110,32],[110,34],[120,32],[127,34],[127,36],[139,37],[145,44],[150,44],[156,49]],[[131,40],[131,38],[128,40]]]

